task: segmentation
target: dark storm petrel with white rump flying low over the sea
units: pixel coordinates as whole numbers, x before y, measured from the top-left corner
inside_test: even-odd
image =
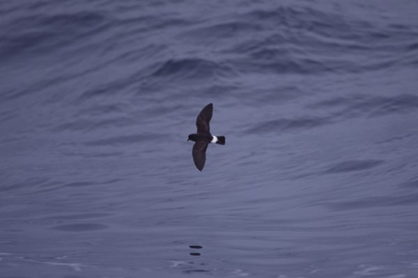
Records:
[[[199,171],[203,170],[206,161],[206,149],[209,143],[225,145],[225,136],[212,136],[210,134],[209,122],[212,119],[213,104],[205,106],[197,116],[197,133],[189,134],[189,139],[194,141],[193,161]]]

